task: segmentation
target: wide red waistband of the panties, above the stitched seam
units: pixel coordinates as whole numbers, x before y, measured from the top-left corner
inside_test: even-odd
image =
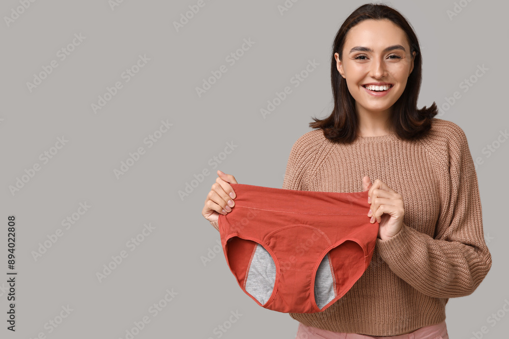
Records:
[[[231,186],[236,194],[234,208],[344,215],[366,214],[371,205],[367,203],[367,191],[351,193],[296,191],[242,183],[231,183]]]

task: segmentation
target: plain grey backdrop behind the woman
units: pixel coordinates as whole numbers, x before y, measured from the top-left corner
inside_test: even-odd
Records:
[[[241,183],[282,186],[290,149],[310,130],[310,117],[330,113],[332,40],[364,2],[299,1],[281,15],[283,0],[205,0],[177,32],[173,22],[197,1],[125,0],[114,9],[106,0],[36,1],[8,27],[5,16],[19,1],[0,5],[0,263],[7,266],[7,216],[15,215],[18,272],[17,331],[6,330],[7,292],[0,290],[0,336],[125,338],[133,322],[148,316],[150,323],[135,338],[294,338],[298,323],[245,295],[222,252],[204,265],[202,257],[213,253],[219,233],[201,210],[217,169]],[[466,7],[452,19],[447,11],[454,10],[453,1],[385,4],[406,16],[421,43],[418,106],[434,101],[442,106],[460,91],[461,99],[439,117],[458,124],[472,157],[483,161],[476,171],[493,267],[472,295],[449,299],[449,336],[470,338],[487,326],[483,337],[500,338],[509,331],[509,316],[495,326],[487,321],[509,300],[504,199],[509,144],[496,145],[509,122],[504,105],[509,5],[461,3]],[[80,33],[86,38],[61,61],[57,51]],[[254,45],[228,64],[225,57],[249,38]],[[150,60],[126,83],[121,74],[140,54]],[[59,66],[30,93],[26,82],[53,59]],[[291,78],[308,60],[320,65],[293,87]],[[228,72],[199,98],[195,87],[221,65]],[[478,65],[489,70],[465,93],[460,83]],[[95,114],[91,104],[116,81],[123,88]],[[260,109],[285,86],[292,86],[292,94],[264,119]],[[144,139],[161,120],[173,126],[148,148]],[[62,136],[68,143],[42,164],[39,155]],[[211,165],[227,142],[237,145],[234,151],[218,167]],[[493,143],[499,147],[487,152]],[[140,146],[146,153],[117,179],[114,169]],[[36,163],[40,171],[13,196],[9,186]],[[204,169],[210,175],[181,199],[179,190]],[[80,202],[92,207],[65,230],[62,220]],[[131,252],[126,242],[146,223],[155,229]],[[59,228],[63,235],[35,260],[32,252]],[[96,272],[123,250],[128,257],[99,282]],[[6,280],[0,279],[4,289]],[[166,289],[178,294],[154,317],[149,307]],[[45,324],[67,305],[73,311],[49,333]],[[219,336],[215,328],[235,311],[242,316]]]

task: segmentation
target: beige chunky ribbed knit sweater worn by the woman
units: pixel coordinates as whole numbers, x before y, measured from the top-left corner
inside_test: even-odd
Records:
[[[323,312],[290,316],[329,331],[377,336],[442,322],[448,298],[471,294],[491,267],[465,133],[438,118],[417,141],[388,134],[336,144],[313,130],[293,145],[282,188],[359,192],[364,175],[402,195],[403,228],[377,239],[370,266],[341,299]]]

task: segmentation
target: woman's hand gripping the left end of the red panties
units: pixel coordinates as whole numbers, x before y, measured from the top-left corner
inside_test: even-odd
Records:
[[[235,199],[237,196],[230,183],[238,183],[235,177],[230,174],[225,174],[217,170],[217,179],[212,188],[207,194],[205,199],[205,206],[202,210],[202,215],[209,222],[217,221],[220,214],[227,214],[232,211],[235,206]]]

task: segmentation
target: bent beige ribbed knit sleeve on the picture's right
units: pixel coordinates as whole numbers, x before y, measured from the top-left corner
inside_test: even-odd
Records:
[[[491,267],[477,176],[467,139],[456,124],[447,126],[447,145],[440,147],[445,149],[444,173],[440,175],[441,217],[434,237],[404,223],[398,234],[387,240],[377,239],[376,244],[395,274],[422,294],[437,298],[471,294]],[[439,151],[436,154],[440,156]]]

